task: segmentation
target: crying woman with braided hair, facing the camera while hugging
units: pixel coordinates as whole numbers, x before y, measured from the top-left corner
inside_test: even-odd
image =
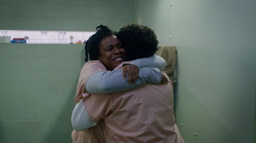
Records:
[[[102,97],[109,96],[109,94],[102,93],[130,90],[145,82],[164,84],[167,82],[167,79],[165,76],[162,76],[159,69],[163,70],[166,63],[159,56],[154,56],[146,59],[145,61],[147,62],[143,62],[144,60],[132,61],[129,65],[124,66],[124,69],[126,69],[124,74],[121,69],[114,70],[114,68],[125,61],[125,53],[115,33],[103,25],[97,27],[96,34],[91,36],[86,42],[85,49],[85,60],[89,61],[89,56],[90,61],[81,70],[75,97],[75,102],[78,104],[72,113],[72,125],[75,130],[80,132],[74,130],[72,139],[73,142],[82,142],[92,141],[93,138],[95,142],[98,138],[97,141],[102,142],[104,140],[102,139],[104,138],[102,131],[104,122],[100,119],[97,120],[99,122],[97,124],[94,122],[95,119],[89,118],[90,115],[87,113],[86,104],[83,101],[91,96],[98,96],[98,94]],[[154,65],[157,65],[159,69],[148,68],[154,67]],[[134,84],[129,84],[122,77],[126,77],[126,72],[128,74],[127,80],[130,83],[134,82]],[[81,97],[83,97],[83,100],[80,100]],[[88,128],[90,129],[87,130]]]

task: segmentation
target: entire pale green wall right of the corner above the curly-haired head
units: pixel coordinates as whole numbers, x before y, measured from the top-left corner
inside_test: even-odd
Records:
[[[133,21],[155,29],[160,44],[177,46],[176,120],[185,141],[253,142],[256,2],[134,3]]]

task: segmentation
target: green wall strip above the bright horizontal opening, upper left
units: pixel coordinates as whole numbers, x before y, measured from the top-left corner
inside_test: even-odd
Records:
[[[131,23],[132,1],[12,0],[0,1],[0,29],[95,31],[99,24],[119,30]]]

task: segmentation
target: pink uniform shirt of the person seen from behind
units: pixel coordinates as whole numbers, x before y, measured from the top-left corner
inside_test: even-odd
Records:
[[[106,142],[184,142],[175,124],[170,82],[104,95],[86,93],[83,104],[94,122],[104,120]]]

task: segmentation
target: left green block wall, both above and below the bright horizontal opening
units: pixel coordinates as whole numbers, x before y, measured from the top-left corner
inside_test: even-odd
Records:
[[[0,0],[0,30],[118,31],[132,1]],[[0,44],[0,142],[71,142],[83,45]]]

